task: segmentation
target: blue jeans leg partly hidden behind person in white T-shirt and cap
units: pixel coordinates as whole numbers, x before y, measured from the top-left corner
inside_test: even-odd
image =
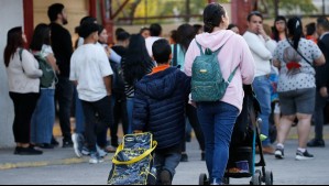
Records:
[[[76,103],[76,133],[83,134],[85,132],[85,114],[83,102],[79,99],[78,91],[75,88],[75,103]]]

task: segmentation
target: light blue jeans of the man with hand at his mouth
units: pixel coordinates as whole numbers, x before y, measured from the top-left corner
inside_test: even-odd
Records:
[[[263,120],[261,125],[262,134],[268,136],[270,132],[270,114],[271,114],[271,81],[266,76],[256,77],[252,84],[253,90],[261,105],[261,119]],[[264,146],[271,144],[270,138],[262,142]]]

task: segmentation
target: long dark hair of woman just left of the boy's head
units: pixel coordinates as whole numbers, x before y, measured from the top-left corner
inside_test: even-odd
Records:
[[[124,80],[134,86],[152,67],[153,62],[147,53],[145,39],[141,34],[132,34],[127,55],[122,58]]]

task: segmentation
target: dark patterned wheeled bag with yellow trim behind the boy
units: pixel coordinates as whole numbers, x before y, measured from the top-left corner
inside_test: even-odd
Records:
[[[156,145],[151,133],[124,135],[113,156],[108,185],[155,185],[152,152]]]

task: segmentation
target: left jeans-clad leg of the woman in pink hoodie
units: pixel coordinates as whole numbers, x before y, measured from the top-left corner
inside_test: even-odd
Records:
[[[215,116],[211,103],[198,103],[197,113],[205,136],[206,164],[209,178],[212,178],[213,150],[215,150]]]

